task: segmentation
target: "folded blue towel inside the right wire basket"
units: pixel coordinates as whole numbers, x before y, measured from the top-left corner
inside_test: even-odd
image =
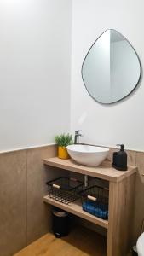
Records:
[[[83,210],[98,218],[108,219],[108,205],[98,201],[84,201]]]

